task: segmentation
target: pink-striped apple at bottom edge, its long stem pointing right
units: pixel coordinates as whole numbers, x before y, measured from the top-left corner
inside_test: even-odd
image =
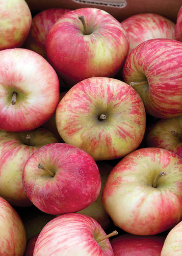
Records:
[[[34,256],[114,256],[109,239],[97,239],[106,233],[94,219],[82,214],[64,214],[49,221],[40,232]]]

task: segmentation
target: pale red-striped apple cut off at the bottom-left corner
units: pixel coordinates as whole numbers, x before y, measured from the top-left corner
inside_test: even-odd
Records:
[[[0,254],[23,256],[27,236],[17,211],[0,197]]]

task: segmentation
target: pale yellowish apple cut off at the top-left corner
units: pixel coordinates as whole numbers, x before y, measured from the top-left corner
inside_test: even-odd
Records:
[[[21,47],[27,37],[32,14],[24,0],[1,0],[0,50]]]

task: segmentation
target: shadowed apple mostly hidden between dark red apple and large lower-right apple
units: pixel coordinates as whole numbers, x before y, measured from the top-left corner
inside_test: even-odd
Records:
[[[101,196],[102,196],[102,189],[105,186],[106,180],[111,170],[113,169],[113,166],[107,162],[97,162],[97,166],[98,166],[100,178],[101,178],[100,194],[95,200],[95,202],[90,204],[85,209],[77,211],[77,213],[84,214],[93,218],[100,224],[103,230],[107,230],[112,227],[113,223],[111,221],[111,218],[107,214],[107,211],[102,205]]]

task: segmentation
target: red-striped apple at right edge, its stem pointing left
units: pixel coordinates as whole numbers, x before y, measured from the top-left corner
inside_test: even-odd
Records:
[[[157,118],[182,114],[182,42],[150,39],[127,56],[124,81],[141,96],[146,112]]]

